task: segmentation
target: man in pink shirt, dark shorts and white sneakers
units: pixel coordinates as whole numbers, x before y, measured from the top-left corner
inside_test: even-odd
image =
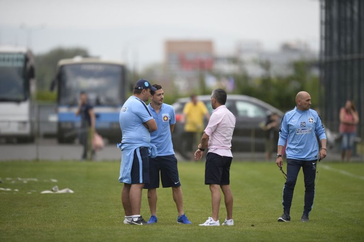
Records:
[[[205,184],[210,185],[212,200],[212,215],[200,226],[220,226],[219,206],[221,192],[225,197],[227,216],[222,225],[234,225],[233,221],[233,194],[230,190],[230,165],[233,160],[231,153],[231,139],[233,136],[236,118],[226,106],[226,92],[215,89],[211,95],[211,106],[215,109],[210,117],[209,124],[202,135],[201,144],[195,152],[195,160],[200,160],[206,148]]]

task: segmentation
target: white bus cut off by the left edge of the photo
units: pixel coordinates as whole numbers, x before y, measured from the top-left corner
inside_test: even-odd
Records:
[[[0,46],[0,138],[7,141],[34,140],[33,63],[26,48]]]

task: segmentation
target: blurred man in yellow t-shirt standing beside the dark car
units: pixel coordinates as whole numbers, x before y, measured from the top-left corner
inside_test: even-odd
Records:
[[[191,101],[187,102],[183,108],[183,115],[185,121],[186,138],[190,144],[189,151],[193,152],[194,148],[199,144],[199,138],[205,128],[203,123],[203,116],[210,118],[209,111],[202,101],[197,100],[196,95],[191,95]],[[191,156],[193,157],[193,156]]]

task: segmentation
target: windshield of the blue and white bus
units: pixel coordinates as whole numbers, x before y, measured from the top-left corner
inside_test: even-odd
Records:
[[[91,105],[120,105],[122,66],[103,63],[68,64],[59,76],[59,104],[77,105],[80,91]]]

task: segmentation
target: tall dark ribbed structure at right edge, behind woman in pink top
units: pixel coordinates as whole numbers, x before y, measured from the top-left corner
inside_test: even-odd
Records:
[[[364,138],[364,1],[320,3],[321,116],[330,129],[338,130],[340,108],[354,100],[358,134]]]

